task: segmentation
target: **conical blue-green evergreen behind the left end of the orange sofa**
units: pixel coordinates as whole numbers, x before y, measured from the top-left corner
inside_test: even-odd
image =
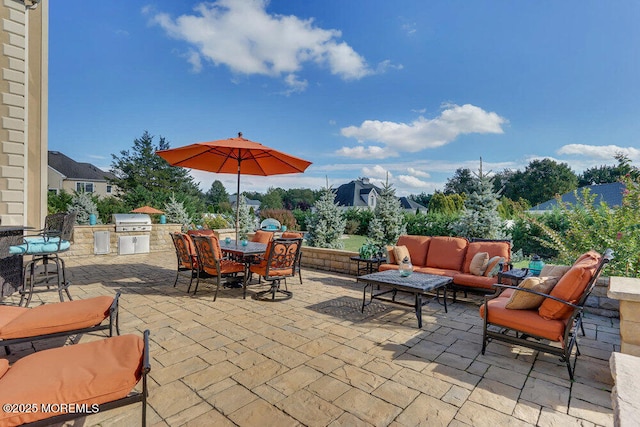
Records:
[[[398,237],[406,231],[407,224],[402,205],[387,179],[376,202],[373,220],[369,223],[369,241],[382,250],[387,245],[395,244]]]

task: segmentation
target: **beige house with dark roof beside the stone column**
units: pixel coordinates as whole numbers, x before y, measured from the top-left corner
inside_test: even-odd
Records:
[[[93,193],[100,197],[113,196],[116,188],[108,180],[115,178],[91,163],[79,163],[59,151],[49,151],[48,190],[58,194]]]

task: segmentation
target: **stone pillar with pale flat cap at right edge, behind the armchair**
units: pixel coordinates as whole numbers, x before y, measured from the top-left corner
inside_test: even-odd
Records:
[[[640,356],[640,279],[610,279],[607,296],[620,301],[620,351]]]

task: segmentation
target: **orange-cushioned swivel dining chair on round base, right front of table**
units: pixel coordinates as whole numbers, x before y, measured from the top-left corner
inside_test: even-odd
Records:
[[[264,259],[259,264],[251,265],[249,271],[264,277],[267,282],[271,282],[271,288],[256,293],[254,298],[263,299],[270,294],[271,300],[275,301],[277,293],[284,295],[284,298],[280,298],[280,300],[286,300],[293,296],[293,293],[287,289],[286,279],[294,277],[296,274],[296,260],[299,257],[301,247],[302,239],[274,239],[269,243]],[[282,280],[285,281],[284,289],[280,287]]]

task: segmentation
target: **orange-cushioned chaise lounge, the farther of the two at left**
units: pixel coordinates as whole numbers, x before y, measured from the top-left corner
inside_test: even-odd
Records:
[[[5,347],[46,338],[108,330],[118,335],[118,301],[100,296],[84,300],[43,304],[34,308],[0,305],[0,346]],[[105,321],[109,319],[109,322]]]

